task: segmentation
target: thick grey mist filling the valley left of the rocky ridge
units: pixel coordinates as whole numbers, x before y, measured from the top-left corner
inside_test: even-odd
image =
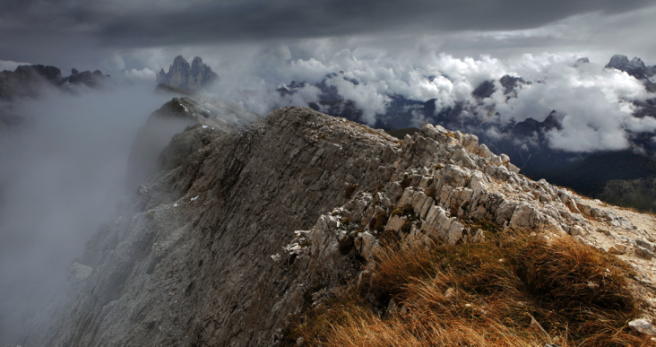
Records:
[[[127,82],[41,94],[15,105],[25,122],[0,136],[0,344],[56,297],[116,211],[134,135],[170,99]]]

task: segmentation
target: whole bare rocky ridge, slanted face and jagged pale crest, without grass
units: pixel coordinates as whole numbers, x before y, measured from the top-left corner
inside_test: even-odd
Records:
[[[307,108],[231,132],[199,119],[91,239],[69,301],[24,345],[275,345],[307,301],[366,290],[390,233],[476,242],[485,235],[467,221],[486,220],[649,243],[626,218],[524,178],[474,135],[428,125],[400,141]]]

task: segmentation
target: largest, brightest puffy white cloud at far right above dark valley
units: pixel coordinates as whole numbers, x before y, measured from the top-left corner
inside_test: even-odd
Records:
[[[564,115],[563,128],[549,132],[550,146],[569,152],[624,149],[628,146],[626,130],[652,131],[651,122],[633,116],[631,101],[650,97],[642,82],[600,65],[574,67],[573,60],[525,56],[519,70],[521,75],[531,76],[533,83],[523,85],[517,98],[507,102],[503,93],[496,91],[492,99],[500,122],[520,122],[528,117],[542,121],[557,110]]]

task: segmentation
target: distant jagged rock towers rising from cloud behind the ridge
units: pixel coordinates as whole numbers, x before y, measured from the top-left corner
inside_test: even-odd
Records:
[[[219,79],[219,75],[211,71],[211,67],[203,64],[200,56],[194,57],[192,64],[182,56],[176,56],[173,64],[168,67],[168,73],[161,69],[157,82],[180,88],[185,91],[200,91]]]

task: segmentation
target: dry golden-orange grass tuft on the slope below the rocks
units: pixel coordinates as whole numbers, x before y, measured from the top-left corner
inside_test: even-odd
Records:
[[[640,346],[617,258],[564,237],[488,234],[477,244],[388,242],[367,291],[309,310],[289,330],[326,346]],[[367,299],[365,299],[367,298]],[[375,298],[375,299],[372,299]],[[386,312],[390,300],[397,303]]]

